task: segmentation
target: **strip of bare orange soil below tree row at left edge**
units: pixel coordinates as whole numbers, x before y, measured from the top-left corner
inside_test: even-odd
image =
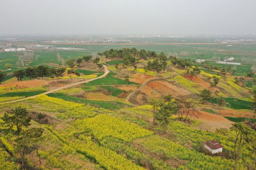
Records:
[[[41,85],[48,85],[51,83],[51,80],[27,80],[27,81],[21,81],[21,82],[11,82],[6,83],[3,85],[0,85],[0,87],[9,87],[9,86],[26,86],[26,87],[38,87]]]

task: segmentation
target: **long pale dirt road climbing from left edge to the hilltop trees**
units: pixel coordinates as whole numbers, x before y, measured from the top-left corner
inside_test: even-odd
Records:
[[[84,80],[84,81],[80,81],[80,82],[76,82],[76,83],[73,83],[73,84],[70,84],[70,85],[65,85],[65,86],[62,86],[62,87],[58,87],[58,88],[55,88],[55,89],[52,89],[52,90],[49,90],[45,93],[41,93],[41,94],[49,94],[49,93],[53,93],[53,92],[56,92],[56,91],[59,91],[59,90],[63,90],[65,88],[68,88],[68,87],[72,87],[72,86],[75,86],[75,85],[80,85],[82,83],[88,83],[92,80],[96,80],[98,78],[103,78],[105,76],[107,76],[109,74],[109,69],[107,66],[103,65],[103,67],[105,68],[105,73],[99,77],[95,77],[95,78],[91,78],[89,80]],[[41,94],[38,94],[38,95],[41,95]],[[4,103],[10,103],[10,102],[20,102],[20,101],[23,101],[23,100],[26,100],[26,99],[31,99],[31,98],[35,98],[37,97],[38,95],[34,95],[34,96],[30,96],[30,97],[26,97],[26,98],[23,98],[23,99],[18,99],[18,100],[14,100],[14,101],[9,101],[9,102],[2,102],[0,104],[4,104]]]

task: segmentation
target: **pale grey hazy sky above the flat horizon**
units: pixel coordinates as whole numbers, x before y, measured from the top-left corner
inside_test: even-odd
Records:
[[[0,0],[0,35],[256,35],[256,0]]]

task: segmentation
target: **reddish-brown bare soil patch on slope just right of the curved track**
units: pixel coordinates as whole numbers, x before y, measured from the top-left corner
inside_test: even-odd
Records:
[[[149,86],[156,90],[159,93],[162,93],[164,95],[167,94],[172,94],[175,97],[179,97],[181,95],[188,95],[190,94],[189,91],[186,91],[182,88],[176,87],[175,85],[171,85],[168,82],[165,81],[154,81],[154,82],[150,82]]]

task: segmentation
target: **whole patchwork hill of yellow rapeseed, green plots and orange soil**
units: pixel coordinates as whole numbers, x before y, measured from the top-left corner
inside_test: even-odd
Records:
[[[99,53],[98,61],[76,60],[59,77],[0,85],[0,169],[23,169],[18,129],[3,119],[21,107],[31,118],[21,136],[32,127],[43,129],[37,149],[24,151],[27,170],[233,170],[236,133],[230,127],[241,122],[255,132],[254,73],[245,76],[247,65],[236,74],[211,61],[197,64],[135,50],[111,49]],[[206,90],[210,96],[203,98]],[[155,109],[152,98],[162,105]],[[177,106],[174,114],[154,119],[170,103]],[[207,151],[204,143],[210,140],[223,145],[223,152]],[[255,159],[248,141],[238,170]]]

